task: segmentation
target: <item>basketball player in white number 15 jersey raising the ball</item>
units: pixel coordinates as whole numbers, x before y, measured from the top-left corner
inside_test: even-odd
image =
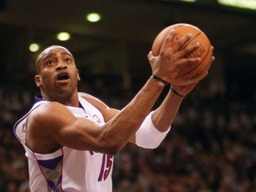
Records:
[[[40,95],[28,114],[14,125],[28,156],[32,192],[112,191],[113,156],[127,142],[156,148],[164,140],[181,101],[196,84],[173,86],[159,108],[150,110],[180,66],[200,61],[186,59],[198,44],[181,50],[191,36],[183,36],[173,48],[168,45],[174,33],[166,37],[158,56],[149,52],[154,76],[120,111],[77,91],[80,77],[66,48],[52,45],[40,53],[35,76]]]

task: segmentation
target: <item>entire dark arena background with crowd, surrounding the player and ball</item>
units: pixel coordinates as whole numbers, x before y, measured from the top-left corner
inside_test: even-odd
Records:
[[[102,20],[86,21],[89,12]],[[122,108],[150,76],[147,54],[156,35],[181,22],[209,36],[216,60],[159,148],[129,144],[116,156],[114,191],[256,191],[255,16],[215,0],[0,0],[0,191],[28,191],[27,161],[12,126],[38,92],[38,52],[29,44],[40,44],[39,52],[66,46],[80,91]],[[60,31],[70,40],[58,41]]]

